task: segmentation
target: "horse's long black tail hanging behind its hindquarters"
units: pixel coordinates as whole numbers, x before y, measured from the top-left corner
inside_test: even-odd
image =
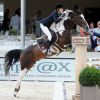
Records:
[[[6,53],[4,62],[5,75],[8,75],[10,67],[18,62],[21,52],[20,49],[14,49]]]

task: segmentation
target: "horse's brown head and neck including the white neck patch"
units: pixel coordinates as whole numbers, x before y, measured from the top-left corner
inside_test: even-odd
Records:
[[[58,24],[55,24],[54,22],[50,27],[50,29],[55,33],[58,32],[62,35],[65,30],[75,29],[77,25],[82,27],[84,31],[88,31],[88,23],[86,22],[84,15],[80,12],[80,10],[74,9],[72,11],[66,9],[63,13],[65,13],[65,16],[63,17],[62,21],[60,21]]]

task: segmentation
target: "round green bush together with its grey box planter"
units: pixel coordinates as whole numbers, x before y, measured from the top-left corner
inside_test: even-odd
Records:
[[[100,70],[87,66],[79,75],[81,100],[100,100]]]

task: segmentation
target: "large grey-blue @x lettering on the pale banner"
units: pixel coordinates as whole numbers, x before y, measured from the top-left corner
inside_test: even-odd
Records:
[[[68,65],[70,63],[53,63],[53,62],[43,62],[40,63],[37,66],[37,70],[40,73],[51,73],[54,71],[66,71],[66,72],[70,72],[70,69],[68,68]]]

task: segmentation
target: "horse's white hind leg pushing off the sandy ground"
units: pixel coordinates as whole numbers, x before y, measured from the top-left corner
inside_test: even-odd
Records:
[[[14,96],[16,97],[17,96],[17,93],[18,91],[20,90],[20,84],[21,84],[21,81],[23,79],[23,77],[25,76],[25,74],[27,73],[28,69],[23,69],[21,70],[20,74],[19,74],[19,78],[17,80],[17,84],[16,84],[16,87],[15,87],[15,90],[14,90]]]

